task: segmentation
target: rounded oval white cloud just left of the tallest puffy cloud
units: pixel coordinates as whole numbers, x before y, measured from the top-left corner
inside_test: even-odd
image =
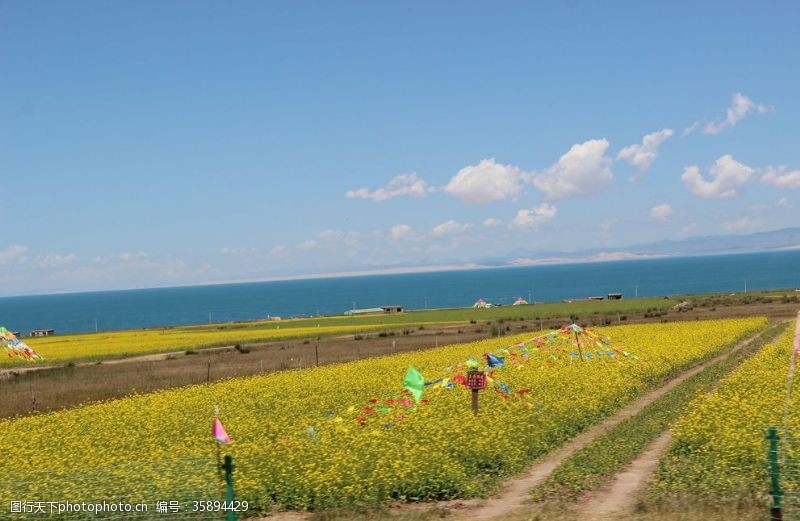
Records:
[[[444,191],[468,203],[488,203],[515,199],[522,194],[522,183],[529,174],[513,165],[483,159],[466,166],[450,179]]]

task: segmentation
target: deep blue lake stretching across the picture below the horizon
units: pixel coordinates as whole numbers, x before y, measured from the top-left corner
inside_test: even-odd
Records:
[[[0,298],[0,325],[27,334],[142,328],[388,304],[465,307],[483,298],[560,301],[800,287],[800,250]]]

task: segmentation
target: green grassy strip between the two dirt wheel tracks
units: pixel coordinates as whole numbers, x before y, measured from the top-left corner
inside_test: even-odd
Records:
[[[534,501],[569,501],[604,484],[667,430],[695,396],[711,391],[720,379],[784,329],[783,324],[769,327],[757,341],[681,382],[639,414],[575,452],[533,490]]]

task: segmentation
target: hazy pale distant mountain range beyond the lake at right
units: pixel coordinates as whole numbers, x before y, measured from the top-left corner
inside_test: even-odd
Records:
[[[598,262],[648,257],[722,255],[754,251],[800,248],[800,227],[742,235],[709,235],[664,240],[617,248],[591,248],[573,252],[516,250],[502,257],[476,260],[488,266]]]

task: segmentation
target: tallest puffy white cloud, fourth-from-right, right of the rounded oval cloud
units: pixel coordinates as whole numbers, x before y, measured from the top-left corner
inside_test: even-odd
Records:
[[[590,195],[607,187],[614,177],[612,159],[605,155],[608,141],[592,139],[572,145],[558,162],[533,178],[548,199]]]

